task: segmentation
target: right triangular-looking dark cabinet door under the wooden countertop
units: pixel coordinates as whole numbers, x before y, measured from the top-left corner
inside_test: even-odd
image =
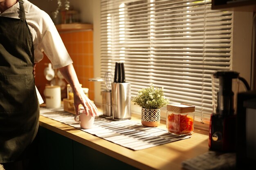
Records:
[[[78,142],[74,141],[73,147],[74,170],[137,170],[133,166]]]

